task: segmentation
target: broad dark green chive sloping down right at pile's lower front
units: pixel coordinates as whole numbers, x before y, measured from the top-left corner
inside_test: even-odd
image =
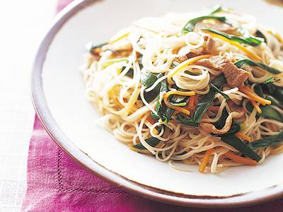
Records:
[[[221,141],[224,141],[230,146],[233,146],[233,148],[236,148],[236,150],[238,150],[240,153],[242,153],[248,158],[256,160],[257,162],[261,159],[260,155],[255,153],[249,146],[243,143],[243,141],[241,141],[241,139],[238,139],[238,137],[234,134],[221,136]]]

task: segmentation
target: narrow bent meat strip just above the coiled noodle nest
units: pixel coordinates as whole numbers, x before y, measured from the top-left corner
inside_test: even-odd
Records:
[[[199,47],[197,49],[190,49],[188,50],[187,54],[184,54],[180,57],[177,57],[178,62],[186,61],[192,57],[196,57],[202,53],[204,54],[211,54],[214,51],[215,41],[212,36],[205,34],[204,35],[204,46]]]

